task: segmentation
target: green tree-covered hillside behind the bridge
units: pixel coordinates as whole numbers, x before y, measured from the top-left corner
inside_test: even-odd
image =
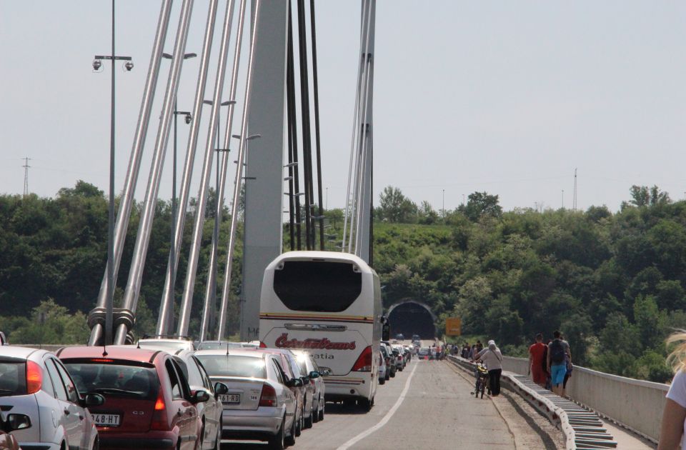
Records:
[[[439,316],[439,329],[446,317],[459,316],[464,334],[495,339],[505,354],[515,356],[526,354],[537,332],[550,336],[560,329],[575,364],[665,381],[670,378],[665,337],[686,328],[686,202],[670,201],[655,186],[633,186],[628,197],[616,213],[605,206],[504,212],[497,196],[476,192],[458,209],[437,212],[389,186],[374,221],[374,268],[384,285],[384,305],[423,301]],[[154,331],[153,311],[159,307],[169,252],[169,205],[159,202],[156,213],[139,334]],[[342,211],[325,214],[329,233],[340,239]],[[62,189],[55,199],[0,196],[0,330],[9,331],[11,340],[84,339],[79,329],[85,328],[85,316],[77,311],[87,314],[96,301],[106,256],[106,217],[102,192],[83,182]],[[206,279],[212,220],[205,224],[196,304],[204,294],[200,286]],[[136,213],[118,296],[137,222]],[[227,217],[222,227],[226,236]],[[334,244],[332,237],[327,245],[334,249]],[[179,278],[187,254],[188,237]],[[240,254],[238,249],[229,334],[237,327]],[[177,292],[181,289],[179,282]]]

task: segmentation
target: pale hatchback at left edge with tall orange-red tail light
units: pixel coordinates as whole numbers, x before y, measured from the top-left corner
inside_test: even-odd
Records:
[[[104,401],[99,394],[81,398],[49,351],[0,346],[0,403],[33,424],[12,433],[23,449],[97,449],[98,431],[86,407]]]

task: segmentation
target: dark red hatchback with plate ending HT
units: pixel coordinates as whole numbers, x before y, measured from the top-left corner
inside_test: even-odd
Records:
[[[79,393],[106,398],[104,405],[89,408],[101,449],[200,448],[202,422],[195,404],[209,400],[209,392],[191,391],[166,351],[69,347],[57,356]]]

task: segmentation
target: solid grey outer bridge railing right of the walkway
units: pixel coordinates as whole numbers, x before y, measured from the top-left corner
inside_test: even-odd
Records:
[[[526,375],[529,360],[504,356],[504,370]],[[567,395],[651,441],[660,439],[662,409],[669,386],[574,366]]]

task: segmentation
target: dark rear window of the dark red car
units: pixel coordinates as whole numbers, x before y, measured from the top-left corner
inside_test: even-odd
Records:
[[[81,395],[94,392],[131,399],[157,398],[159,378],[152,364],[106,359],[66,359],[62,363]]]

